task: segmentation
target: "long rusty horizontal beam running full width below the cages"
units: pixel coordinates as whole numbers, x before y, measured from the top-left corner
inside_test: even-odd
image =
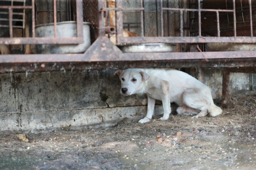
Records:
[[[251,67],[256,63],[248,63],[247,61],[255,61],[256,52],[254,51],[233,51],[233,52],[187,52],[187,53],[112,53],[104,54],[96,51],[98,55],[91,56],[89,54],[32,54],[32,55],[1,55],[0,63],[28,63],[28,62],[101,62],[101,61],[204,61],[221,59],[221,61],[239,61],[234,66],[227,67]],[[206,61],[207,63],[207,61]],[[244,65],[248,63],[248,65]],[[222,63],[218,63],[222,65]],[[198,66],[199,67],[199,66]],[[218,67],[218,65],[216,65]],[[222,67],[222,66],[220,66]]]

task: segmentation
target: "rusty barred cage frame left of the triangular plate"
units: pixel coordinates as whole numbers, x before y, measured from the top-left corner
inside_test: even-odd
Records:
[[[54,38],[35,37],[35,0],[32,0],[32,6],[0,6],[2,9],[9,9],[10,38],[0,38],[0,44],[78,44],[83,43],[83,5],[82,0],[76,0],[76,22],[77,37],[58,38],[57,37],[57,9],[56,0],[54,2]],[[32,9],[32,38],[13,38],[12,37],[12,10],[13,9]]]

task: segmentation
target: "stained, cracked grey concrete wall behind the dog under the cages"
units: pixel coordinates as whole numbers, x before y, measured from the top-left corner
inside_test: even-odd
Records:
[[[120,95],[114,70],[0,74],[0,131],[111,126],[146,115],[145,95]],[[217,69],[205,69],[204,83],[221,97]],[[232,92],[250,88],[248,74],[232,73]],[[162,114],[158,102],[155,114]]]

